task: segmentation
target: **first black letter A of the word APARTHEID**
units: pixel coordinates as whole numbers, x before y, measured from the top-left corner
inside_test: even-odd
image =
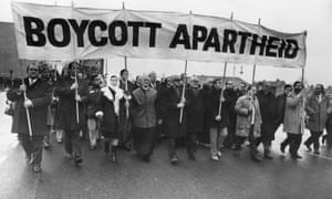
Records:
[[[175,35],[169,44],[170,49],[175,49],[178,44],[185,45],[185,49],[190,49],[190,40],[186,24],[179,24]]]

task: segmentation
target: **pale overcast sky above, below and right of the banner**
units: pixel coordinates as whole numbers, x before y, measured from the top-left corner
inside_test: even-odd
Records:
[[[23,1],[23,0],[19,0]],[[10,0],[0,1],[0,21],[12,21]],[[70,6],[70,0],[24,0],[24,2]],[[74,0],[75,7],[121,9],[122,0]],[[305,78],[309,83],[332,85],[332,0],[125,0],[126,9],[175,11],[230,17],[236,20],[261,24],[281,32],[308,30]],[[128,59],[132,76],[156,71],[163,74],[179,74],[184,61]],[[108,60],[108,73],[118,73],[124,67],[123,59]],[[224,63],[188,62],[189,74],[221,75]],[[252,65],[236,65],[235,75],[251,82]],[[234,75],[229,64],[227,75]],[[257,66],[256,80],[284,80],[292,83],[300,80],[301,70]]]

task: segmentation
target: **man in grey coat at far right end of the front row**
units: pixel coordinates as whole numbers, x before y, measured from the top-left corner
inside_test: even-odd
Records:
[[[314,154],[317,155],[320,154],[319,138],[325,128],[329,105],[330,103],[325,95],[324,86],[317,84],[312,95],[305,101],[305,112],[309,116],[307,127],[310,129],[311,136],[304,142],[309,151],[311,151],[311,145],[313,144]]]

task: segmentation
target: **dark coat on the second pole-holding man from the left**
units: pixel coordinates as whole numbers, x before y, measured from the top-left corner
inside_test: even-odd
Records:
[[[59,96],[59,121],[55,122],[58,128],[64,130],[80,130],[85,125],[84,103],[87,101],[89,87],[87,82],[79,80],[79,95],[82,101],[79,102],[79,119],[76,122],[76,101],[75,90],[71,90],[74,80],[71,77],[62,78],[54,90],[54,94]]]

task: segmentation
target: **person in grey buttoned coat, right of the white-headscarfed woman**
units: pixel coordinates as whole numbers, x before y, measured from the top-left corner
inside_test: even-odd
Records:
[[[157,115],[155,102],[157,91],[149,86],[147,75],[141,77],[141,87],[133,92],[133,144],[137,156],[144,161],[149,161],[153,154],[154,137],[156,132]]]

